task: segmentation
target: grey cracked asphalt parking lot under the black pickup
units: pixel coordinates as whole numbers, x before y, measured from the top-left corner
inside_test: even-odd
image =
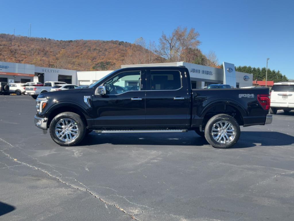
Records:
[[[294,220],[294,111],[214,149],[196,133],[96,134],[61,147],[35,100],[0,96],[0,219]]]

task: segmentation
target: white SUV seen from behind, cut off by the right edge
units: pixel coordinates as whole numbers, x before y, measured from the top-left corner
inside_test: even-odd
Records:
[[[294,82],[274,83],[270,90],[270,113],[276,114],[278,110],[294,110]]]

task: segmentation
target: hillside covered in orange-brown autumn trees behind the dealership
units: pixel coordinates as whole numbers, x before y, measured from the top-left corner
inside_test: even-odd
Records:
[[[113,70],[126,64],[130,50],[141,46],[122,41],[53,40],[0,34],[0,61],[73,70]],[[152,52],[150,52],[152,53]],[[164,59],[154,55],[154,62]]]

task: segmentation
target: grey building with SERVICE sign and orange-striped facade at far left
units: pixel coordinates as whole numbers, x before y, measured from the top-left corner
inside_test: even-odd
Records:
[[[36,67],[35,65],[0,61],[0,82],[44,83],[46,81],[63,81],[69,84],[78,84],[75,70]]]

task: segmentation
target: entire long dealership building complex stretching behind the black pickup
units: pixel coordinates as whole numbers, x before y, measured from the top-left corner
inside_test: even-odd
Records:
[[[203,88],[210,84],[228,84],[234,88],[252,86],[253,75],[235,71],[235,65],[223,62],[223,69],[196,65],[187,62],[154,63],[121,65],[125,67],[159,67],[159,66],[185,66],[191,76],[192,88]],[[26,83],[46,81],[63,81],[75,85],[90,85],[101,79],[109,71],[76,71],[35,65],[0,62],[0,82]],[[133,84],[130,81],[130,85]],[[125,85],[125,86],[130,86]]]

